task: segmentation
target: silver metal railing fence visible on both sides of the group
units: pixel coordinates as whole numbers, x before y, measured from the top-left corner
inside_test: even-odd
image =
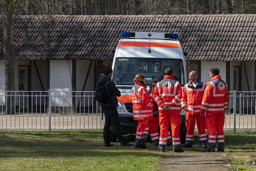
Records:
[[[103,129],[95,92],[1,91],[0,129]],[[256,129],[256,92],[229,92],[224,129]]]

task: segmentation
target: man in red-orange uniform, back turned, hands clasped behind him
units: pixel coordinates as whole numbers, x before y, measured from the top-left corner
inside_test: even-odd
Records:
[[[154,89],[153,98],[157,102],[159,111],[160,139],[158,151],[164,151],[167,145],[169,123],[172,127],[172,147],[174,152],[183,152],[180,148],[180,99],[181,85],[175,80],[175,70],[166,68],[165,76]]]

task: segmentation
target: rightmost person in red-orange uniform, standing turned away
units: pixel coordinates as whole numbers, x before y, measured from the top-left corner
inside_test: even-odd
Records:
[[[206,83],[204,96],[201,104],[201,115],[206,112],[206,129],[208,132],[208,147],[203,149],[204,152],[214,152],[216,147],[216,135],[219,152],[224,152],[224,121],[227,105],[228,90],[227,84],[221,79],[218,68],[212,68],[209,76],[212,79]]]

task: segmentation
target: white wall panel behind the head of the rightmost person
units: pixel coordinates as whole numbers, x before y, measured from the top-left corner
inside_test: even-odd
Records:
[[[222,61],[201,61],[201,81],[206,83],[211,80],[208,74],[209,70],[213,67],[220,69],[220,76],[224,81],[226,81],[226,62]]]

